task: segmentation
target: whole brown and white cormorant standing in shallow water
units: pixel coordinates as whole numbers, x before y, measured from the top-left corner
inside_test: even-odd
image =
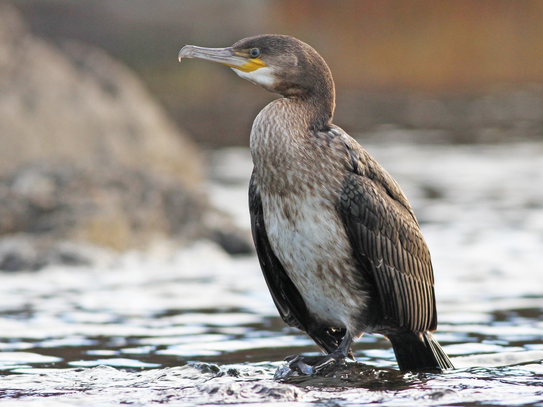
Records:
[[[364,332],[392,342],[402,371],[452,368],[437,325],[430,253],[396,181],[332,124],[335,90],[305,42],[258,35],[229,48],[187,45],[181,58],[229,66],[280,94],[258,114],[250,147],[252,236],[283,321],[327,355],[290,357],[302,373],[352,357]]]

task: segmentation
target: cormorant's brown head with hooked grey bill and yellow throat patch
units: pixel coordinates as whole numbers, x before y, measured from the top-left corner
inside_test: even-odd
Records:
[[[332,74],[324,59],[305,42],[287,35],[258,35],[228,48],[187,45],[179,52],[181,58],[222,63],[240,77],[285,97],[326,97],[334,103]]]

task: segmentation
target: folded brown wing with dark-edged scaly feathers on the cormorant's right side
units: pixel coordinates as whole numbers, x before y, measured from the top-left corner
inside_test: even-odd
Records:
[[[411,206],[392,177],[353,144],[346,143],[352,168],[338,211],[361,271],[373,283],[370,312],[387,321],[383,328],[435,330],[430,252]]]

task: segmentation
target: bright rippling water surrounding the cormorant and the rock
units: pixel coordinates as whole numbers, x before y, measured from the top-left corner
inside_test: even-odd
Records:
[[[317,347],[277,317],[255,257],[202,241],[0,274],[3,405],[543,406],[543,147],[368,150],[419,217],[456,370],[401,374],[364,335],[335,374],[273,379]],[[213,199],[247,227],[247,151],[213,161]]]

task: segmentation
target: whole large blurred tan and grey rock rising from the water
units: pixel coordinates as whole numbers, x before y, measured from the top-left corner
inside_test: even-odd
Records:
[[[0,146],[0,236],[116,250],[208,237],[244,250],[207,202],[199,150],[136,75],[99,49],[37,38],[2,3]],[[0,250],[0,268],[39,268],[23,246]]]

